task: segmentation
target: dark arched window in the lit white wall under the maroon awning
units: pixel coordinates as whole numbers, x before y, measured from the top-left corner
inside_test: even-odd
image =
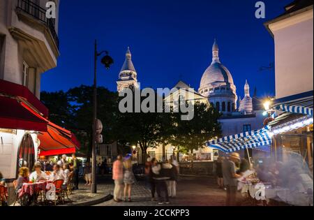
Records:
[[[17,151],[17,172],[18,169],[25,166],[31,170],[35,163],[35,148],[33,147],[33,138],[29,133],[25,134],[21,145]]]

